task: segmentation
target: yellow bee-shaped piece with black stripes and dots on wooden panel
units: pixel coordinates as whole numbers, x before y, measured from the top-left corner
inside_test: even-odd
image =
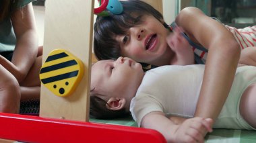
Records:
[[[55,95],[66,97],[75,91],[84,75],[84,64],[63,49],[53,50],[40,70],[40,81]]]

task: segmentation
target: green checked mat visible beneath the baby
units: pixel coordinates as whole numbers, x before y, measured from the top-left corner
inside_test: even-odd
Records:
[[[131,116],[115,120],[96,120],[94,118],[90,118],[90,122],[137,127],[136,122],[134,122]],[[256,143],[256,131],[214,129],[214,132],[205,136],[205,142]]]

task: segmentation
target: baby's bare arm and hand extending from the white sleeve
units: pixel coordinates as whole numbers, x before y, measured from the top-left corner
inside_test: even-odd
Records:
[[[153,111],[141,120],[141,127],[158,130],[167,142],[203,142],[205,132],[212,132],[213,120],[193,117],[181,125],[174,124],[164,113]]]

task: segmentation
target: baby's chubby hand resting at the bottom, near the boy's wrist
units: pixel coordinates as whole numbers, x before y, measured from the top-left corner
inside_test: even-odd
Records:
[[[174,142],[204,142],[207,132],[212,132],[213,120],[193,117],[185,120],[174,132]]]

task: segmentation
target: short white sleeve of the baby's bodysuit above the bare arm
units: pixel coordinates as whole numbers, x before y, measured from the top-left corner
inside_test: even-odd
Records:
[[[152,111],[163,111],[162,104],[154,97],[146,94],[136,95],[130,104],[131,115],[133,120],[141,126],[142,118]]]

